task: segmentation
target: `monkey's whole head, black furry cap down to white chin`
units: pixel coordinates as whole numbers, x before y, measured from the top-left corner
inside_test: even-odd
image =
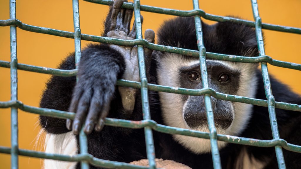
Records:
[[[206,51],[258,56],[253,28],[231,22],[202,25]],[[193,18],[178,17],[166,22],[159,31],[159,44],[197,50]],[[202,89],[199,58],[179,54],[154,53],[158,84],[179,88]],[[254,98],[258,64],[207,59],[209,87],[215,91]],[[172,127],[209,132],[204,96],[159,93],[164,122]],[[211,97],[218,134],[239,136],[247,127],[252,105]],[[210,140],[173,135],[182,146],[194,153],[210,152]],[[219,148],[225,142],[218,141]]]

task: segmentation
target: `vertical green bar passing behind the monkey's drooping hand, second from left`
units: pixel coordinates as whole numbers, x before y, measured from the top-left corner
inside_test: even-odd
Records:
[[[79,5],[78,0],[72,0],[73,6],[73,26],[74,26],[74,48],[75,48],[75,66],[78,68],[78,63],[81,57],[81,30],[79,25]],[[76,80],[78,80],[76,78]],[[80,153],[88,153],[88,139],[84,133],[84,126],[82,126],[79,133],[79,149]],[[82,169],[88,169],[89,163],[87,161],[80,161]]]

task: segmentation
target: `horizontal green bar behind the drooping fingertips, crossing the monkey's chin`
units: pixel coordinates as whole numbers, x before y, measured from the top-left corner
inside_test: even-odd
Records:
[[[30,112],[30,113],[45,115],[50,117],[63,118],[63,119],[65,118],[73,119],[75,117],[75,113],[73,112],[65,112],[65,111],[55,110],[55,109],[46,109],[46,108],[27,106],[20,101],[0,102],[1,108],[7,108],[11,106],[17,107],[25,112]],[[205,139],[210,138],[209,133],[206,132],[169,127],[169,126],[157,124],[156,121],[150,119],[142,120],[142,121],[129,121],[123,119],[106,118],[105,124],[110,126],[126,127],[126,128],[144,128],[150,126],[154,130],[163,133],[182,134],[182,135],[205,138]],[[286,141],[283,139],[278,139],[278,140],[273,139],[274,140],[273,143],[269,144],[269,140],[249,139],[244,137],[236,137],[236,136],[229,136],[229,135],[222,135],[222,134],[217,134],[217,136],[218,136],[217,137],[218,140],[226,141],[229,143],[237,143],[237,144],[260,146],[260,147],[272,147],[276,145],[281,145],[287,150],[301,153],[301,146],[286,143]]]

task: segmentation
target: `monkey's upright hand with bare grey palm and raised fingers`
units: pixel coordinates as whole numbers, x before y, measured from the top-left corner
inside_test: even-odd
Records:
[[[127,2],[127,1],[125,1]],[[123,9],[121,6],[123,5],[122,0],[116,0],[113,4],[113,9],[110,17],[110,29],[107,30],[109,32],[105,32],[107,37],[124,39],[124,40],[133,40],[136,38],[136,25],[132,27],[130,30],[130,23],[132,20],[133,11],[129,9]],[[143,22],[143,17],[141,16],[141,23]],[[145,39],[154,43],[155,33],[152,29],[147,29],[144,33]],[[126,70],[123,73],[122,79],[131,80],[131,81],[140,81],[139,78],[139,66],[138,66],[138,53],[137,46],[118,46],[118,45],[110,45],[111,48],[119,51],[126,63]],[[151,59],[152,50],[148,48],[144,48],[144,57],[146,65],[148,61]],[[122,105],[125,109],[125,112],[131,114],[134,110],[135,106],[135,96],[137,89],[127,88],[127,87],[118,87],[119,93],[122,99]]]

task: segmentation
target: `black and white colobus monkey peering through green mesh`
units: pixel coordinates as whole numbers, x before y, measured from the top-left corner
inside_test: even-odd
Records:
[[[110,7],[103,36],[133,39],[132,11],[120,9],[123,1]],[[244,24],[202,23],[206,51],[240,56],[258,56],[253,28]],[[166,21],[158,31],[158,43],[197,50],[194,18],[177,17]],[[145,32],[154,42],[154,32]],[[144,48],[149,82],[201,89],[198,58],[152,51]],[[152,56],[152,57],[151,57]],[[78,153],[78,133],[82,124],[88,134],[88,152],[96,158],[131,162],[146,158],[142,129],[103,126],[105,117],[142,120],[140,91],[116,87],[118,78],[139,81],[137,48],[117,45],[89,45],[82,51],[78,78],[52,76],[40,106],[76,112],[74,121],[40,116],[47,132],[46,152]],[[226,94],[265,99],[258,64],[207,59],[209,87]],[[74,54],[59,66],[75,69]],[[301,98],[271,77],[276,101],[301,104]],[[150,92],[151,117],[159,124],[208,131],[203,96]],[[214,119],[219,134],[256,139],[272,139],[268,109],[218,100],[212,97]],[[299,112],[276,110],[280,137],[300,145]],[[87,117],[86,117],[87,116]],[[86,118],[85,118],[86,117]],[[98,123],[100,121],[100,123]],[[95,129],[95,130],[94,130]],[[73,132],[69,132],[72,130]],[[101,131],[100,131],[101,130]],[[210,142],[206,139],[169,135],[154,131],[156,158],[174,160],[191,168],[213,168]],[[277,168],[275,149],[218,142],[222,168]],[[287,168],[301,167],[301,154],[284,151]],[[79,168],[76,163],[45,160],[45,168]],[[91,168],[95,168],[91,166]]]

